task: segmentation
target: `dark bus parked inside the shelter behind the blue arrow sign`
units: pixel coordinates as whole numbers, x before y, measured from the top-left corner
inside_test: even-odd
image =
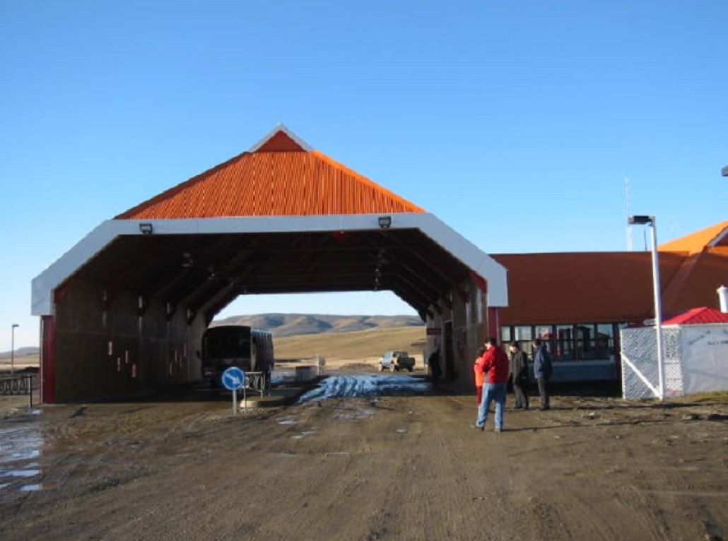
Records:
[[[244,372],[262,372],[248,377],[250,387],[268,388],[273,370],[273,335],[244,325],[213,326],[202,335],[202,377],[210,385],[221,385],[230,366]]]

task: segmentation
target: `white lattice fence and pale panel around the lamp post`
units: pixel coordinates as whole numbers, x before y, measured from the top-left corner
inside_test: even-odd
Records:
[[[622,329],[622,396],[660,396],[654,327]],[[728,325],[662,328],[665,398],[728,390]]]

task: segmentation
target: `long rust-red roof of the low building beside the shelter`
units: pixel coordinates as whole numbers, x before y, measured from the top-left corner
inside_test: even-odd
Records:
[[[714,238],[714,237],[713,237]],[[508,271],[505,325],[634,321],[654,316],[650,252],[494,255]],[[718,308],[728,247],[660,252],[662,311]]]

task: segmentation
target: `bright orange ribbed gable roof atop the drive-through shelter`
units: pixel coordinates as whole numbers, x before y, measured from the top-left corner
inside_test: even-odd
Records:
[[[122,212],[117,219],[424,212],[280,129],[244,152]]]

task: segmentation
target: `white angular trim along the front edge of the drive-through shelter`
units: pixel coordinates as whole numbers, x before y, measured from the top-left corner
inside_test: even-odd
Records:
[[[419,229],[488,282],[488,305],[507,306],[507,271],[475,244],[424,212],[387,214],[391,229]],[[117,236],[142,235],[140,223],[151,223],[154,235],[204,233],[288,233],[307,231],[379,231],[376,215],[272,216],[190,218],[183,220],[107,220],[68,250],[58,261],[33,278],[31,312],[33,316],[52,315],[52,293]]]

